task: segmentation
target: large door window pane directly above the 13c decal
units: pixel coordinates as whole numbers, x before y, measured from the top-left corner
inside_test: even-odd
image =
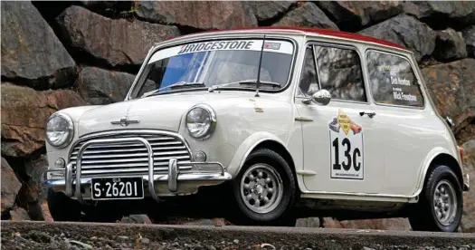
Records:
[[[315,46],[318,79],[332,99],[366,102],[365,82],[359,54],[355,50]]]

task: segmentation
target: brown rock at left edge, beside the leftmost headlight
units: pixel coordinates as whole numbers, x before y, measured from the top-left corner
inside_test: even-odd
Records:
[[[44,127],[53,112],[87,104],[71,90],[34,91],[2,83],[2,155],[31,156],[44,147]]]

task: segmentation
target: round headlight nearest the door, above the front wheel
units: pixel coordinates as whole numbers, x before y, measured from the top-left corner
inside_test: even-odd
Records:
[[[216,126],[216,114],[208,105],[195,105],[186,113],[186,129],[195,139],[208,139]]]

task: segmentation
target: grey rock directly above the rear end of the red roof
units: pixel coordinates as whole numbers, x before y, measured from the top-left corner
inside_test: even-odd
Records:
[[[375,24],[359,34],[400,44],[413,51],[418,62],[423,57],[431,55],[435,48],[435,32],[407,14],[400,14],[383,23]]]

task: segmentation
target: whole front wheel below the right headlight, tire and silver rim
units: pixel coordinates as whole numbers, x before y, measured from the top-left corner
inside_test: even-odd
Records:
[[[295,178],[289,163],[275,151],[252,152],[233,179],[233,193],[238,224],[295,226],[290,216],[296,199]]]

